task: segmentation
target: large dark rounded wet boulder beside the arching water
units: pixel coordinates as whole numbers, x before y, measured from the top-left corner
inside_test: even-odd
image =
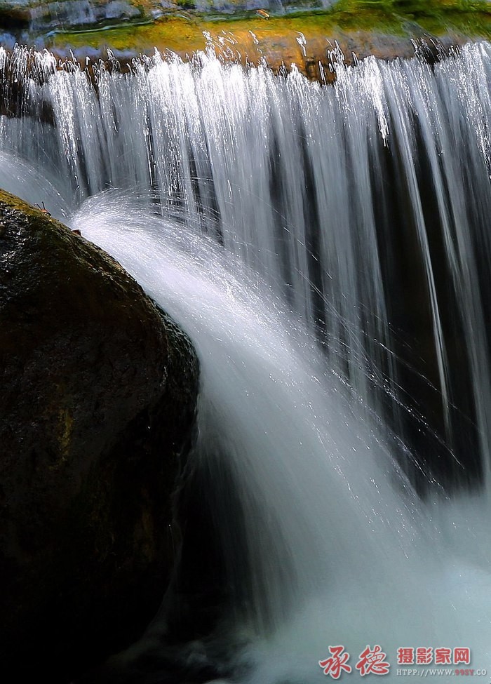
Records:
[[[166,590],[198,363],[109,255],[0,192],[0,657],[66,682]]]

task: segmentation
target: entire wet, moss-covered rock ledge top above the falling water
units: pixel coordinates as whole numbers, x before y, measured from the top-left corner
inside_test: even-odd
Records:
[[[186,58],[211,41],[228,58],[265,59],[274,69],[295,62],[309,73],[335,41],[348,56],[394,58],[411,56],[411,41],[424,36],[444,44],[491,39],[489,0],[0,0],[0,19],[9,6],[17,16],[11,25],[24,17],[16,39],[80,60],[103,57],[107,48],[129,60],[155,47]]]

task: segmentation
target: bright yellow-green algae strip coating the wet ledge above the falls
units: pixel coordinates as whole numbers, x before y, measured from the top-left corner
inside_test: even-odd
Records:
[[[51,48],[84,46],[102,50],[139,53],[152,47],[178,53],[193,53],[205,47],[203,32],[211,36],[233,34],[236,48],[253,48],[255,34],[259,46],[291,48],[297,51],[301,32],[309,40],[336,37],[338,32],[372,32],[408,36],[417,32],[436,36],[455,33],[461,36],[491,38],[491,4],[483,0],[339,0],[330,11],[260,18],[249,16],[210,20],[200,15],[168,15],[146,25],[123,25],[105,31],[67,32],[53,36]],[[257,45],[256,45],[257,47]],[[260,50],[257,50],[260,52]],[[288,50],[286,58],[288,59]]]

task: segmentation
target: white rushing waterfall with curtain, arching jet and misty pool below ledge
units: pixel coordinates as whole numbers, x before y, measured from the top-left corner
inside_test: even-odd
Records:
[[[0,186],[112,253],[199,352],[228,668],[310,684],[342,644],[356,679],[379,644],[386,680],[399,647],[491,674],[491,46],[333,87],[210,54],[97,88],[46,53],[0,51],[0,74]]]

